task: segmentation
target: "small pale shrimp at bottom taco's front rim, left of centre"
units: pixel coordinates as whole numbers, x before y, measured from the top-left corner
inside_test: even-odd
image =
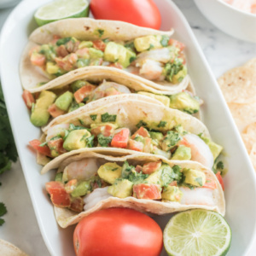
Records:
[[[84,197],[84,211],[95,207],[99,201],[108,199],[112,195],[108,194],[108,187],[94,189],[89,195]]]

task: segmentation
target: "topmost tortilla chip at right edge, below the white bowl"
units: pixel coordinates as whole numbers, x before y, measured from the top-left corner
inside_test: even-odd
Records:
[[[236,67],[218,79],[225,100],[228,103],[247,104],[256,102],[255,59],[243,67]]]

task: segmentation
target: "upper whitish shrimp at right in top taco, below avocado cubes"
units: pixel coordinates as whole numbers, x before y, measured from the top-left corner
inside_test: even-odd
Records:
[[[144,51],[143,53],[137,55],[137,59],[134,62],[136,63],[136,67],[141,67],[143,62],[147,60],[167,63],[168,61],[170,61],[170,59],[170,50],[168,48],[162,48]]]

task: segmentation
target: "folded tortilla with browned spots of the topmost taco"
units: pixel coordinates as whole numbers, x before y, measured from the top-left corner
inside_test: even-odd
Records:
[[[122,21],[94,20],[90,18],[59,20],[49,23],[45,26],[38,27],[38,29],[32,32],[31,36],[29,37],[29,42],[26,45],[20,60],[21,84],[26,90],[36,91],[38,83],[46,82],[50,86],[50,84],[52,84],[51,82],[55,81],[56,79],[60,80],[57,83],[61,83],[61,81],[66,80],[70,75],[73,76],[73,74],[78,71],[78,69],[73,70],[59,78],[51,80],[46,78],[44,73],[38,72],[38,68],[32,65],[29,56],[31,49],[40,44],[48,44],[53,39],[54,35],[58,35],[61,38],[75,37],[79,38],[79,40],[108,38],[109,40],[113,41],[128,41],[147,35],[166,35],[171,37],[172,33],[173,30],[162,32],[141,26],[134,26]],[[172,84],[167,81],[157,82],[143,78],[140,78],[139,81],[153,87],[156,90],[166,90],[171,92],[181,91],[186,88],[189,83],[189,79],[186,77],[180,84]]]

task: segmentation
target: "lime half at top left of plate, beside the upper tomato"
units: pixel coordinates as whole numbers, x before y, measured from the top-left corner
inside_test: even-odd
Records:
[[[56,0],[40,7],[34,17],[38,26],[55,20],[88,17],[89,3],[87,0]]]

